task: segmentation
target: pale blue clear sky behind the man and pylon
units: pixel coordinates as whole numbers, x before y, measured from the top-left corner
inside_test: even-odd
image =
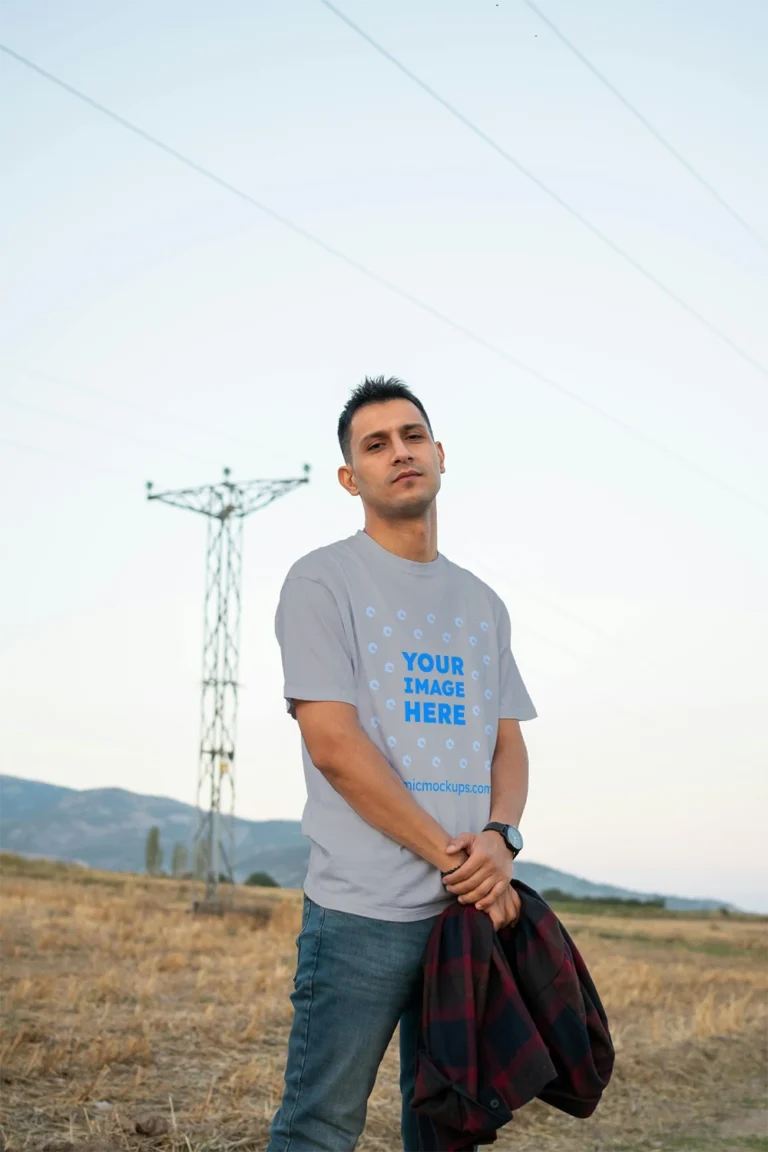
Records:
[[[340,6],[768,364],[768,250],[520,0]],[[542,8],[768,236],[768,8]],[[0,0],[0,40],[768,506],[765,374],[318,0]],[[239,813],[298,819],[274,607],[358,526],[335,420],[397,373],[447,450],[441,551],[504,597],[539,711],[529,858],[768,910],[768,513],[2,55],[0,96],[0,440],[40,453],[0,444],[0,771],[192,801],[204,524],[144,480],[310,461],[248,523],[241,666]]]

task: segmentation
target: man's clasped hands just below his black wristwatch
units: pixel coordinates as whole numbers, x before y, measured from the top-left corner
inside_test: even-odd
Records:
[[[474,904],[487,912],[494,930],[514,924],[520,912],[520,897],[511,887],[512,854],[497,832],[463,832],[448,844],[448,855],[467,852],[456,872],[443,877],[443,885],[461,904]]]

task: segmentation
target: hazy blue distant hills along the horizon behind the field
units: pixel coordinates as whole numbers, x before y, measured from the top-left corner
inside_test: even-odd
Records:
[[[166,796],[142,796],[123,788],[79,791],[0,775],[0,851],[77,861],[112,872],[143,872],[146,834],[155,824],[168,865],[175,843],[191,847],[197,814],[190,804]],[[235,844],[237,880],[265,871],[284,888],[302,887],[309,842],[298,820],[238,819]],[[573,896],[636,900],[660,895],[594,884],[531,861],[519,859],[515,874],[539,892],[560,888]],[[663,899],[668,908],[679,910],[731,907],[717,900]]]

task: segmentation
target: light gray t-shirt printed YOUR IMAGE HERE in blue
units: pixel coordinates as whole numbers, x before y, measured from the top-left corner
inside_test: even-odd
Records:
[[[537,715],[492,589],[442,554],[403,560],[360,531],[294,564],[275,631],[291,714],[292,700],[352,704],[421,808],[451,836],[482,829],[499,720]],[[303,741],[302,755],[307,896],[375,919],[441,912],[454,897],[439,869],[363,820]]]

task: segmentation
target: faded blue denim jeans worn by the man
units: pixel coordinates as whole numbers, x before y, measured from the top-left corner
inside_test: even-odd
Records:
[[[436,919],[377,920],[304,896],[286,1087],[267,1152],[352,1152],[398,1022],[403,1149],[419,1152],[410,1104],[421,961]]]

